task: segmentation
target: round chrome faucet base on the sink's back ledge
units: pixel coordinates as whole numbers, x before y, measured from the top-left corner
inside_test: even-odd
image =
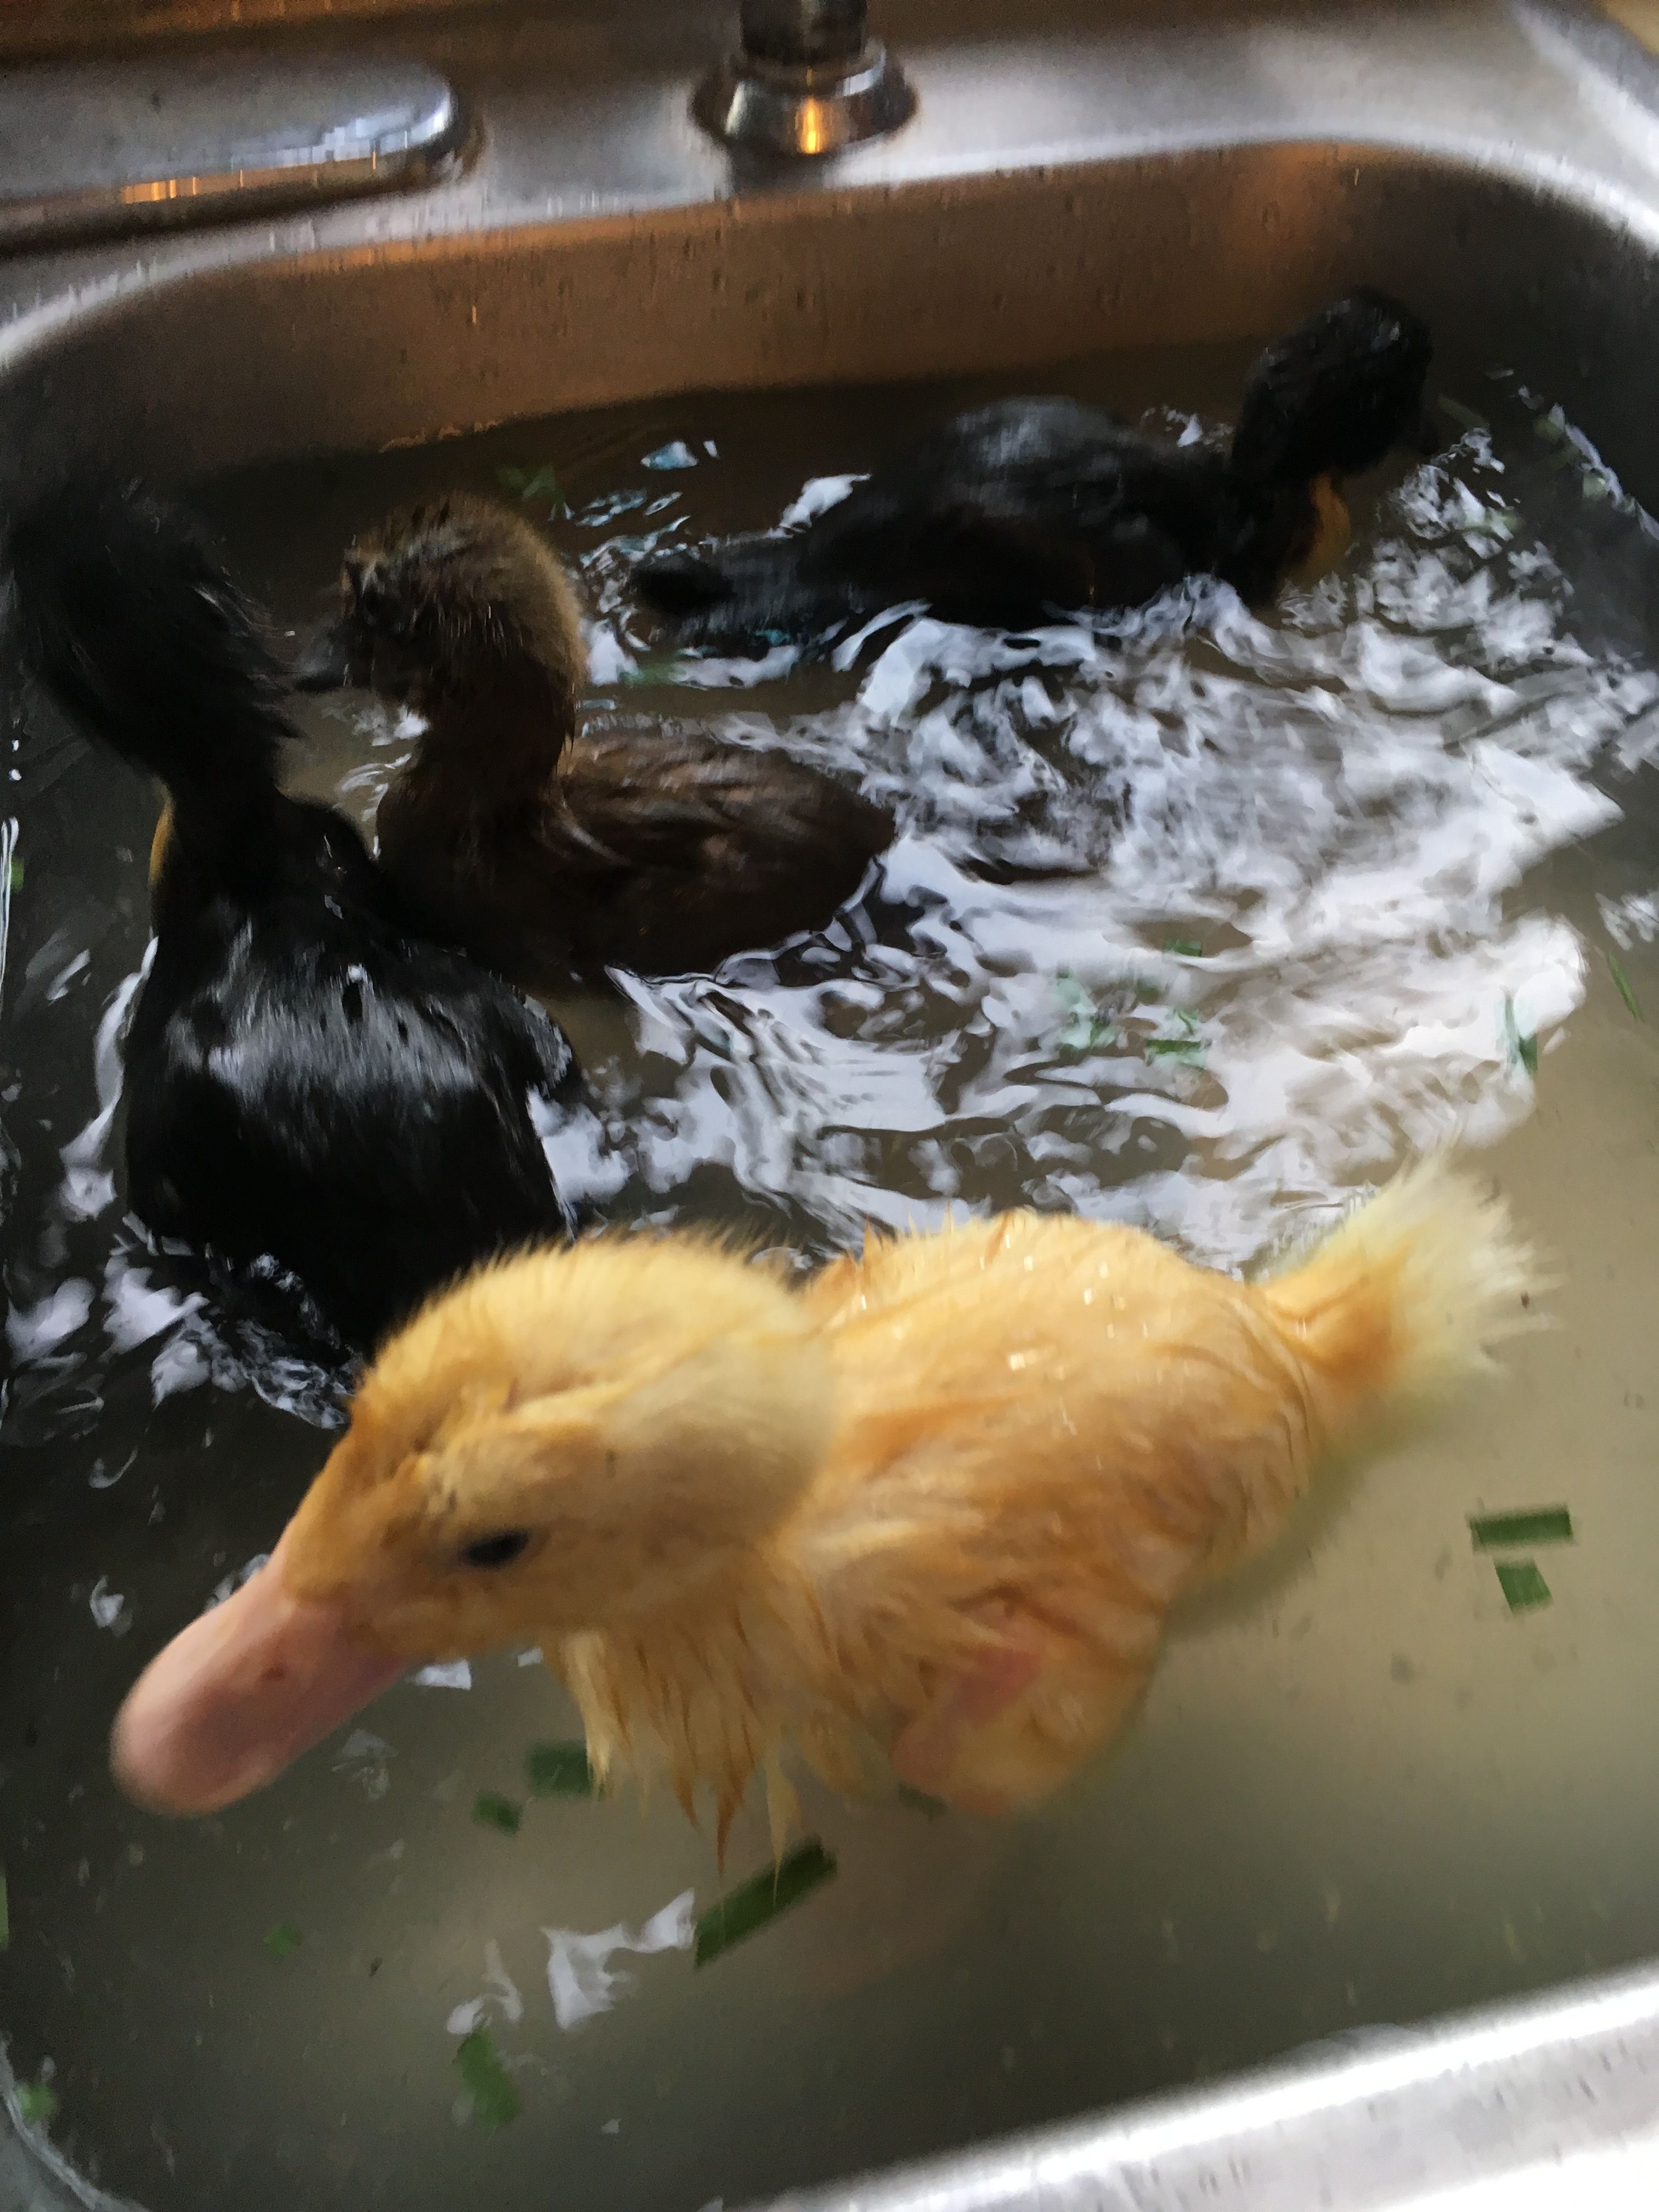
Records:
[[[825,155],[898,131],[916,95],[869,35],[865,0],[741,0],[739,51],[692,102],[714,137]]]

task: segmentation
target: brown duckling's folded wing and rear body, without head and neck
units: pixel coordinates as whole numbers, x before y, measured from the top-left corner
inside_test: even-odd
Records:
[[[540,825],[584,898],[575,933],[670,969],[823,927],[889,838],[889,816],[834,779],[672,730],[571,745]]]

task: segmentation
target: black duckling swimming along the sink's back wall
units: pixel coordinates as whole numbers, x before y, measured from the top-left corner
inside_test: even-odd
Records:
[[[1188,575],[1248,602],[1347,538],[1343,476],[1416,429],[1427,327],[1352,292],[1270,345],[1225,453],[1148,438],[1064,398],[998,400],[929,431],[785,538],[657,553],[646,606],[684,641],[805,639],[922,599],[945,622],[1024,628],[1141,606]]]

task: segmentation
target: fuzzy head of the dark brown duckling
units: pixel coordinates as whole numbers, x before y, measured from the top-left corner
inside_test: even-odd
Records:
[[[449,493],[392,515],[345,553],[338,615],[292,670],[299,690],[365,684],[420,714],[507,688],[575,714],[582,608],[524,515]]]

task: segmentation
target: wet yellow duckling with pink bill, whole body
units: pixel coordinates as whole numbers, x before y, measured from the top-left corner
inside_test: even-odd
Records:
[[[1259,1283],[1135,1230],[1004,1214],[805,1290],[692,1237],[480,1270],[394,1338],[270,1566],[115,1728],[210,1812],[418,1661],[540,1644],[595,1772],[721,1832],[794,1747],[975,1812],[1124,1725],[1170,1608],[1338,1451],[1489,1365],[1537,1287],[1506,1208],[1405,1175]]]

